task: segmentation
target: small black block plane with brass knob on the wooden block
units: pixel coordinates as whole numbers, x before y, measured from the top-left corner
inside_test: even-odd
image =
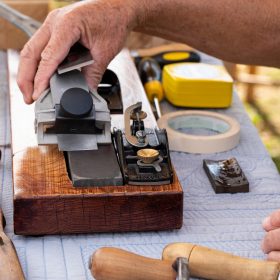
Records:
[[[124,182],[132,185],[171,184],[173,168],[166,131],[145,128],[146,115],[141,102],[129,106],[125,110],[124,134],[119,129],[113,132]],[[143,150],[153,150],[148,161],[146,156],[143,157],[146,154]]]

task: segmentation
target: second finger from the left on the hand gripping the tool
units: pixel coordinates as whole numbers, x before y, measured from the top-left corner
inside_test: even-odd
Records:
[[[48,87],[51,76],[78,39],[79,32],[75,32],[66,22],[57,26],[56,30],[52,32],[50,40],[41,54],[40,64],[34,78],[33,100],[37,100]]]

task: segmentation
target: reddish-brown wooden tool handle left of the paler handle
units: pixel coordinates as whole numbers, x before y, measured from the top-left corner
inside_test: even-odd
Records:
[[[96,280],[175,280],[172,262],[142,257],[121,249],[101,248],[91,257]]]

